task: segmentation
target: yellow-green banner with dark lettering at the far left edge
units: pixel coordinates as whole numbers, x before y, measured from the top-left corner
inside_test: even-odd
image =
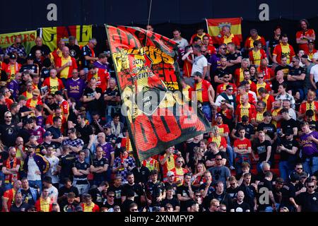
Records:
[[[27,53],[30,52],[31,48],[35,45],[35,38],[37,37],[36,30],[29,30],[23,32],[7,33],[0,35],[0,47],[6,48],[14,44],[16,37],[20,37],[22,44]]]

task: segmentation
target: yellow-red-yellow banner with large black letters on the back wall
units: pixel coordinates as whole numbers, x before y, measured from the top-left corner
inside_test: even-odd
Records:
[[[76,37],[78,45],[86,45],[92,38],[92,25],[73,25],[42,28],[43,44],[46,44],[49,49],[54,51],[57,49],[59,40],[69,41],[69,36]]]

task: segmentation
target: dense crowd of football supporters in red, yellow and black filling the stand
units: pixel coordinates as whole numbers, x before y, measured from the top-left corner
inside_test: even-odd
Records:
[[[0,54],[2,211],[318,211],[315,33],[305,19],[295,37],[282,31],[242,44],[227,25],[217,42],[173,30],[182,91],[211,132],[140,167],[109,49],[69,37],[52,52],[37,37],[27,53],[17,37]]]

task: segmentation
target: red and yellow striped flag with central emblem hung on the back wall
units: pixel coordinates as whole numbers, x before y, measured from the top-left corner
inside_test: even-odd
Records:
[[[220,18],[220,19],[206,19],[206,26],[208,27],[208,35],[212,36],[214,43],[218,43],[218,37],[222,34],[221,29],[224,25],[230,25],[231,33],[238,37],[242,42],[242,18]]]

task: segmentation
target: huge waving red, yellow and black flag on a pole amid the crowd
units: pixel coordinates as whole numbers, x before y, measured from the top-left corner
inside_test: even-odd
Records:
[[[107,25],[106,31],[135,157],[141,162],[206,133],[202,112],[182,98],[177,43],[142,28]]]

